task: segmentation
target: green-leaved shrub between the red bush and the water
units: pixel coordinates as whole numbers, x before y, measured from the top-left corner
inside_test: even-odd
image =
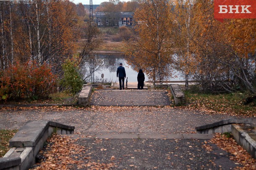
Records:
[[[78,72],[78,66],[75,61],[67,59],[62,65],[64,76],[61,85],[71,94],[76,94],[83,87],[83,79]]]

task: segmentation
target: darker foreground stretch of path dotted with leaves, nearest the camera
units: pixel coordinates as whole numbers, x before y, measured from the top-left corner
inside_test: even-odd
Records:
[[[213,151],[206,150],[208,140],[87,139],[76,143],[86,147],[76,159],[92,169],[95,164],[111,164],[117,170],[229,170],[240,166],[216,145],[210,144]]]

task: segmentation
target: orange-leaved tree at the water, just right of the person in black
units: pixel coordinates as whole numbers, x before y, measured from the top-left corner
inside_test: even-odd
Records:
[[[140,10],[134,18],[138,21],[135,36],[126,41],[125,54],[128,62],[138,69],[144,69],[153,84],[171,76],[172,27],[169,15],[170,4],[167,0],[142,0]],[[168,21],[168,22],[167,22]]]

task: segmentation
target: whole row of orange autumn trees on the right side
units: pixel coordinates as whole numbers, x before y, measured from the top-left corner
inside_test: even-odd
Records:
[[[156,81],[173,69],[208,92],[256,94],[256,20],[214,19],[212,0],[141,0],[126,42],[131,64]]]

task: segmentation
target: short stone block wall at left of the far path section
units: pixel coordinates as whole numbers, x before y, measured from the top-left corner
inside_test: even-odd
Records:
[[[91,90],[92,86],[84,86],[79,97],[78,97],[78,104],[84,107],[89,106],[89,100],[91,97]]]

